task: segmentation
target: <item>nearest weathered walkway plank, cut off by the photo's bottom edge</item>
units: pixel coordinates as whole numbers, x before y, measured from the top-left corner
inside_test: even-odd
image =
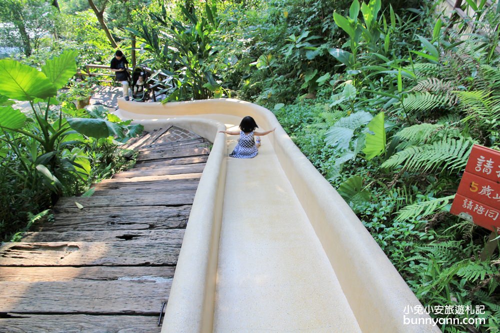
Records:
[[[157,316],[14,315],[0,317],[0,332],[159,333],[157,323]]]

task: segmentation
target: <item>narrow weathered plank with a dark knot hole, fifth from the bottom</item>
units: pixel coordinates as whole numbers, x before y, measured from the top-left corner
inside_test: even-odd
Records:
[[[108,230],[102,231],[35,231],[22,234],[23,242],[156,242],[182,244],[184,229]]]

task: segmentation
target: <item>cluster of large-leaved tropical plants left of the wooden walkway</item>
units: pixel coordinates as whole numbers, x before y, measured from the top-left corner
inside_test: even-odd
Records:
[[[116,147],[112,141],[126,141],[142,131],[142,126],[121,122],[103,110],[78,111],[56,98],[76,73],[76,55],[64,51],[47,59],[40,71],[15,60],[0,60],[2,238],[18,228],[23,219],[18,214],[29,218],[29,226],[37,220],[29,214],[88,186],[96,173],[91,172],[92,164],[101,169],[97,173],[107,167],[92,163],[100,162],[95,158],[108,162],[106,156],[112,156]],[[13,107],[13,100],[29,102],[31,112]]]

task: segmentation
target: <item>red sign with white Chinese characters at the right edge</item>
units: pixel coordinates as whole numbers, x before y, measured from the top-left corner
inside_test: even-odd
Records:
[[[500,152],[474,145],[450,210],[500,232]]]

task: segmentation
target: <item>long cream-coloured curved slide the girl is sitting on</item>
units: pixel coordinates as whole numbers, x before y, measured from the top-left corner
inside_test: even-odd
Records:
[[[162,333],[439,332],[348,205],[274,115],[214,99],[119,102],[117,115],[169,124],[213,147],[175,271]],[[243,116],[262,137],[253,159],[228,157]]]

